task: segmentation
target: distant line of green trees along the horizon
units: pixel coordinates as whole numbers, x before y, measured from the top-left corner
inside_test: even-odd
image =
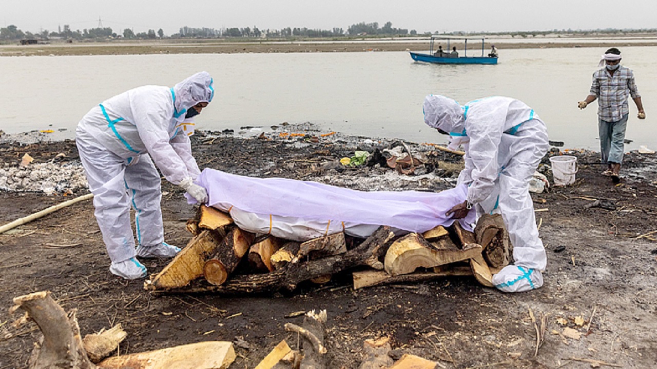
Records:
[[[440,32],[436,32],[440,33]],[[445,32],[442,32],[445,33]],[[537,37],[551,34],[624,34],[624,33],[657,33],[656,28],[650,29],[614,29],[605,28],[599,30],[550,30],[550,31],[526,31],[526,32],[449,32],[451,35],[511,35],[512,37]],[[309,29],[309,28],[281,28],[280,30],[260,30],[258,27],[253,28],[222,28],[216,30],[214,28],[191,28],[182,27],[179,32],[173,33],[170,36],[164,35],[164,31],[160,28],[157,32],[155,30],[148,30],[147,32],[135,33],[130,28],[125,28],[123,32],[116,33],[112,28],[89,28],[83,30],[72,30],[68,24],[64,24],[63,29],[59,28],[57,32],[49,32],[43,30],[38,33],[23,32],[15,25],[10,25],[5,28],[0,28],[0,41],[13,41],[22,39],[66,39],[66,40],[101,40],[101,39],[162,39],[162,38],[261,38],[268,39],[275,38],[320,38],[320,37],[353,37],[353,36],[394,36],[394,35],[417,35],[417,31],[394,28],[392,22],[386,22],[382,27],[379,27],[378,22],[373,23],[357,23],[352,24],[343,30],[342,28],[332,28],[331,30]],[[429,35],[430,32],[423,33]]]

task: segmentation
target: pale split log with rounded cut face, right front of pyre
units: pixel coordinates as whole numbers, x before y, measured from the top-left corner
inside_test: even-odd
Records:
[[[473,238],[474,239],[474,238]],[[409,274],[419,267],[432,268],[481,255],[478,244],[469,243],[459,250],[449,238],[429,243],[417,233],[395,241],[386,253],[385,269],[391,276]]]

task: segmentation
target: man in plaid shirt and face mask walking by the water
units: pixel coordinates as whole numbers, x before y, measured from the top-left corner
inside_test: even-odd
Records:
[[[623,140],[629,106],[627,95],[637,104],[637,118],[645,119],[641,95],[634,83],[631,69],[620,65],[620,51],[615,47],[602,55],[599,66],[605,65],[593,73],[591,91],[585,100],[578,102],[580,109],[598,99],[598,129],[600,133],[600,154],[602,163],[607,163],[608,169],[602,174],[610,175],[614,183],[620,181],[620,164],[623,162]]]

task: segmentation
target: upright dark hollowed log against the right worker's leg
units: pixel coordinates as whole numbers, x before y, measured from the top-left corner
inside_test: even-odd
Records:
[[[513,256],[513,246],[502,215],[482,215],[474,227],[474,236],[484,249],[484,259],[493,272],[509,265]]]

